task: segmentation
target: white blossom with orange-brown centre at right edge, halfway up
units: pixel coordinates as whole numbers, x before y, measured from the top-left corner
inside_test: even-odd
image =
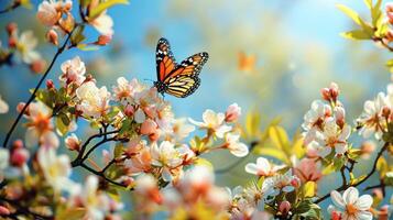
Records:
[[[376,98],[364,102],[364,110],[357,120],[362,125],[359,133],[363,138],[369,138],[374,133],[375,139],[380,140],[386,128],[385,120],[382,117],[382,110],[387,107],[386,96],[383,92],[378,94]]]

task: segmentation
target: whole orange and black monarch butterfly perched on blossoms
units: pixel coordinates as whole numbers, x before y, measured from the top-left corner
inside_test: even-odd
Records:
[[[209,55],[203,52],[177,64],[170,42],[161,37],[155,52],[157,80],[154,86],[162,95],[166,92],[178,98],[192,95],[200,85],[198,75],[208,57]]]

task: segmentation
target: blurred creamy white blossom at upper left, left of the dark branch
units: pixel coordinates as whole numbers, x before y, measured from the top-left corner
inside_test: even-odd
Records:
[[[25,31],[17,41],[17,56],[24,63],[31,64],[41,58],[41,55],[34,51],[39,41],[35,38],[33,31]]]

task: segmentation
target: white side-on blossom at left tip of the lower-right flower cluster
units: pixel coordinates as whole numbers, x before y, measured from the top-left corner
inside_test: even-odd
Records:
[[[271,164],[266,158],[264,157],[258,157],[256,158],[256,164],[254,163],[248,163],[245,165],[245,172],[249,174],[253,174],[256,176],[273,176],[276,174],[277,170],[284,168],[285,165],[274,165]]]

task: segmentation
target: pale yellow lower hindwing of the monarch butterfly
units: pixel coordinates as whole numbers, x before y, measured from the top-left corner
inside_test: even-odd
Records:
[[[178,75],[172,77],[167,81],[165,92],[178,98],[185,98],[199,87],[200,79],[195,75]]]

